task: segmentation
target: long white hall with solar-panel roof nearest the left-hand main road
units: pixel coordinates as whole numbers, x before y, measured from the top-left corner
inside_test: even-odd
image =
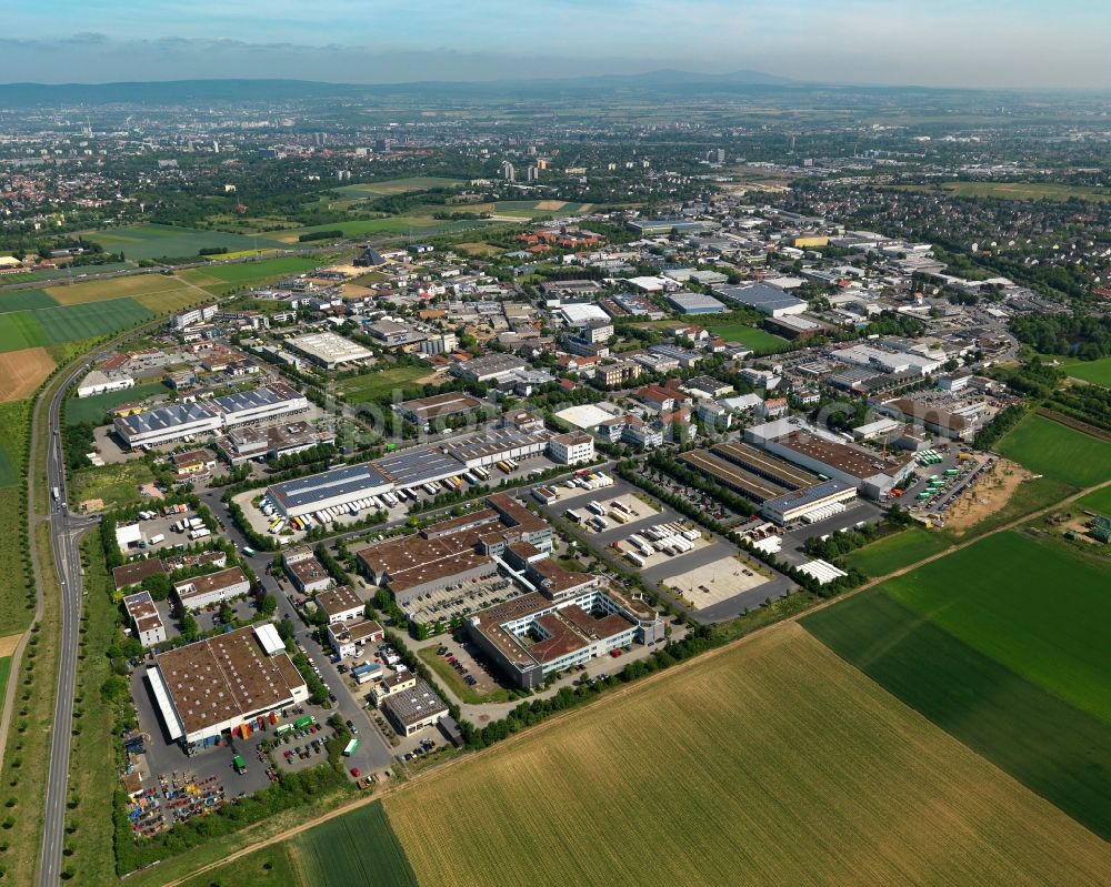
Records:
[[[114,430],[123,443],[137,450],[302,413],[308,409],[309,401],[301,392],[282,382],[274,382],[267,387],[213,397],[203,404],[170,404],[120,416],[116,420]]]

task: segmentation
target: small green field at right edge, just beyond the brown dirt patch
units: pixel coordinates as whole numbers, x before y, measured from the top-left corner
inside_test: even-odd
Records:
[[[999,452],[1035,474],[1085,487],[1108,480],[1111,444],[1031,413],[999,443]]]

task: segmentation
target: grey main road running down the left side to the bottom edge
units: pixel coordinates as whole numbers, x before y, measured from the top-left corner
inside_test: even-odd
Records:
[[[46,817],[42,830],[42,856],[39,884],[57,887],[62,869],[67,784],[69,782],[70,737],[73,726],[73,697],[77,684],[78,628],[81,621],[81,552],[79,540],[97,518],[79,517],[64,507],[66,460],[62,454],[60,422],[66,392],[89,371],[91,361],[74,369],[50,401],[47,430],[47,491],[50,508],[50,546],[61,591],[61,648],[58,665],[58,692],[54,698],[53,732],[50,737],[50,772],[47,777]],[[58,487],[58,500],[51,490]],[[32,534],[34,522],[31,522]],[[31,544],[34,544],[32,538]],[[49,592],[49,589],[46,589]]]

